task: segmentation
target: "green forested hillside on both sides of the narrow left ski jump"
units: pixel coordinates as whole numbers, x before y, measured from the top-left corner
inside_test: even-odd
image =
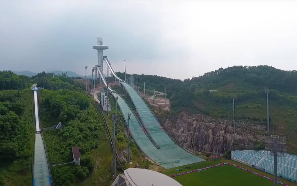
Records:
[[[38,87],[44,87],[38,91],[40,127],[45,129],[58,122],[62,123],[62,129],[43,131],[50,165],[72,162],[73,146],[78,146],[81,154],[80,166],[70,163],[51,168],[53,184],[111,184],[112,148],[102,116],[93,105],[92,98],[82,91],[83,83],[74,81],[65,74],[53,78],[51,73],[45,72],[31,78],[15,75],[10,71],[0,72],[0,75],[5,77],[5,81],[1,81],[1,90],[12,89],[0,91],[0,186],[32,184],[35,125],[31,86],[34,83]],[[111,105],[110,115],[103,113],[110,129],[111,116],[115,114],[114,100],[111,100]],[[127,163],[127,132],[119,110],[118,114],[116,150],[121,163],[125,168],[148,168],[151,163],[132,141],[130,147],[133,163]],[[119,164],[117,169],[122,171]]]

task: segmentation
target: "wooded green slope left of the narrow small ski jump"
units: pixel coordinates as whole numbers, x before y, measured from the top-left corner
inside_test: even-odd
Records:
[[[31,184],[33,141],[32,92],[0,91],[0,183]]]

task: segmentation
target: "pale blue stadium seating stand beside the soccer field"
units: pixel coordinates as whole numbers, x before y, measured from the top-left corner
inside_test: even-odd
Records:
[[[254,167],[261,167],[274,174],[274,157],[267,151],[236,150],[231,152],[231,159]],[[297,156],[284,154],[277,157],[277,174],[297,182]]]

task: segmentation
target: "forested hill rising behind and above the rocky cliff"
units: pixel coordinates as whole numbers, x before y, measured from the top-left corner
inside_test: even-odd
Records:
[[[138,75],[134,76],[137,84]],[[141,75],[140,75],[141,76]],[[288,151],[297,153],[297,72],[269,66],[234,66],[207,72],[183,82],[158,77],[162,81],[151,87],[154,77],[145,75],[146,87],[167,89],[171,112],[202,113],[215,118],[267,122],[265,89],[270,90],[270,124],[277,134],[288,138]],[[163,86],[163,87],[162,87]]]

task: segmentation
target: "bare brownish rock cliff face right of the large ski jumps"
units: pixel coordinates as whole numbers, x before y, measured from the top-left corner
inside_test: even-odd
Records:
[[[213,119],[202,114],[189,115],[184,112],[163,118],[160,122],[184,148],[210,153],[225,153],[228,149],[253,149],[253,141],[264,139],[263,135],[253,131],[266,130],[263,124],[237,121],[234,134],[232,120]]]

